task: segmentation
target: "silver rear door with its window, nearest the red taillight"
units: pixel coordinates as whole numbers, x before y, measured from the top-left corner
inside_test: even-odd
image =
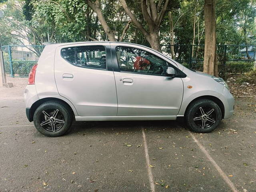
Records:
[[[54,75],[58,92],[79,116],[116,116],[116,85],[110,43],[84,43],[56,49]]]

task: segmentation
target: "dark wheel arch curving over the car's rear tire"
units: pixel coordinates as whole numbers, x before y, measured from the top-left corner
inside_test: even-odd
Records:
[[[33,121],[33,117],[34,117],[34,113],[36,111],[36,109],[43,103],[47,102],[47,101],[58,101],[58,102],[61,102],[63,104],[65,104],[66,106],[68,106],[70,108],[70,111],[72,112],[72,116],[75,120],[75,114],[74,114],[74,110],[72,109],[72,107],[70,106],[70,104],[68,104],[66,101],[60,99],[60,98],[54,98],[54,97],[47,97],[47,98],[42,98],[40,100],[37,100],[36,102],[34,102],[32,104],[32,106],[30,107],[30,110],[29,110],[29,117],[28,117],[28,120],[30,122]]]

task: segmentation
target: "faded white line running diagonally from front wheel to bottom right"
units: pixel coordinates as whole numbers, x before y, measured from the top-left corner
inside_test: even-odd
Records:
[[[234,183],[226,176],[226,174],[221,170],[220,166],[214,161],[214,159],[210,156],[210,154],[206,151],[206,149],[200,144],[200,142],[196,139],[196,137],[190,132],[191,137],[194,139],[198,147],[202,150],[202,152],[205,154],[205,156],[210,160],[210,162],[213,164],[213,166],[216,168],[216,170],[219,172],[220,176],[223,178],[223,180],[228,184],[228,186],[231,188],[233,192],[239,192]]]

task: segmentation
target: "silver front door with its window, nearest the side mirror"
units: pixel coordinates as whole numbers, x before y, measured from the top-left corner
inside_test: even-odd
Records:
[[[148,51],[128,46],[112,48],[112,60],[115,59],[118,63],[118,71],[114,71],[118,116],[178,114],[183,82],[181,78],[166,76],[166,60]]]

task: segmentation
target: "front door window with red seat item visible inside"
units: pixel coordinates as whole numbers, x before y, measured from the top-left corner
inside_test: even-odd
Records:
[[[144,50],[118,46],[116,48],[116,56],[120,71],[166,75],[167,62]]]

